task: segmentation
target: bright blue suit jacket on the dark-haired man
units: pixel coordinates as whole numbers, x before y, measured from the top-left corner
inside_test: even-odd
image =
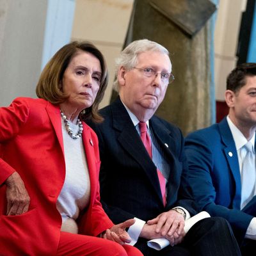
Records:
[[[189,164],[189,183],[200,211],[226,218],[236,236],[243,238],[253,218],[250,214],[255,214],[253,205],[256,200],[253,198],[251,204],[240,211],[239,163],[227,118],[220,124],[189,134],[185,150]]]

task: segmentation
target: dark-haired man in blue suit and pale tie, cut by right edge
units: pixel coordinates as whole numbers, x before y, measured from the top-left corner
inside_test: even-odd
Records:
[[[188,182],[200,211],[226,218],[242,254],[252,255],[250,249],[256,249],[256,63],[244,63],[230,72],[225,100],[229,112],[220,124],[186,138]],[[252,148],[249,168],[246,145]]]

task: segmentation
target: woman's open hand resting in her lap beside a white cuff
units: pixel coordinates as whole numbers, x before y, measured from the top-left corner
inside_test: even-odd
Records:
[[[115,241],[118,244],[131,243],[131,237],[125,231],[125,228],[131,227],[134,222],[135,220],[131,219],[124,221],[123,223],[120,223],[118,225],[114,225],[110,229],[106,230],[103,238]]]

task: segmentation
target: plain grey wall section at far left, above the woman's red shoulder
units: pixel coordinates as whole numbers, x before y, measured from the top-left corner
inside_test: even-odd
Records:
[[[2,0],[0,4],[0,106],[8,106],[16,97],[35,97],[47,2]]]

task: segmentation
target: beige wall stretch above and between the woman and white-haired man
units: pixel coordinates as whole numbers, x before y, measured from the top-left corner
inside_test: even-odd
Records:
[[[109,84],[100,108],[109,104],[115,58],[122,50],[132,10],[132,0],[77,0],[72,40],[88,40],[106,57]]]

